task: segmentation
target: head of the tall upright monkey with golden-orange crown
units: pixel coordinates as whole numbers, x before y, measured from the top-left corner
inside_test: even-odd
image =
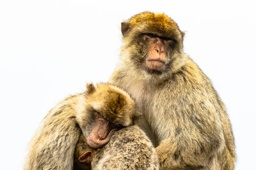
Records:
[[[159,76],[173,73],[182,65],[184,33],[172,18],[145,11],[121,25],[121,59],[132,69]]]

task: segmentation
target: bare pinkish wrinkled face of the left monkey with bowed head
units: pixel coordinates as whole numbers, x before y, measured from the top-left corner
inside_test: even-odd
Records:
[[[122,125],[109,122],[97,111],[93,111],[90,116],[90,120],[92,121],[86,125],[86,129],[83,129],[83,133],[86,138],[86,143],[92,148],[99,148],[108,143],[113,132],[123,127]]]

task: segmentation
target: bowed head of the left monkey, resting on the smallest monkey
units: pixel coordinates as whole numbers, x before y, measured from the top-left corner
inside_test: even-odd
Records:
[[[92,148],[105,145],[113,132],[133,124],[135,103],[124,90],[108,83],[90,83],[84,96],[84,113],[77,114],[77,122]]]

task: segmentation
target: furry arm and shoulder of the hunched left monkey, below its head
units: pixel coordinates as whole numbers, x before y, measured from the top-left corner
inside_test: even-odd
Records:
[[[30,142],[24,169],[73,169],[74,150],[81,134],[68,97],[44,118]]]

